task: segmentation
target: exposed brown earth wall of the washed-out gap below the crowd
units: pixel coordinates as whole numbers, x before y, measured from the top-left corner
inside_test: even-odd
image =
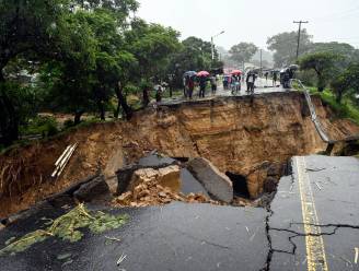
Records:
[[[349,120],[333,119],[313,97],[317,116],[332,139],[358,134]],[[70,143],[79,143],[59,179],[49,176]],[[99,123],[48,142],[0,156],[0,216],[26,209],[69,185],[103,170],[107,177],[125,163],[159,150],[173,157],[202,156],[222,172],[247,176],[264,161],[283,163],[293,155],[324,151],[300,93],[227,97],[147,109],[130,122]],[[259,179],[248,179],[259,195]]]

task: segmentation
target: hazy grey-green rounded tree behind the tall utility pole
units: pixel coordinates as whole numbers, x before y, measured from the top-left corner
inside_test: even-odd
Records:
[[[300,37],[299,56],[303,55],[310,49],[312,44],[312,36],[308,34],[306,30],[302,30]],[[291,64],[296,61],[298,44],[298,32],[285,32],[273,37],[268,37],[268,49],[275,51],[275,66],[280,68]]]

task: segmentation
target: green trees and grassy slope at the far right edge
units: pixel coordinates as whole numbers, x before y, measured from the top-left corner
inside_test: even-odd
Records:
[[[299,58],[298,74],[312,86],[337,116],[359,123],[359,58],[352,46],[338,43],[314,44]],[[313,80],[313,78],[315,80]]]

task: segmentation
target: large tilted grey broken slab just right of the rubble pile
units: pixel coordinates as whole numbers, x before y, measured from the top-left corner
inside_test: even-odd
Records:
[[[204,185],[216,199],[230,203],[233,200],[233,185],[206,158],[194,158],[187,163],[187,169]]]

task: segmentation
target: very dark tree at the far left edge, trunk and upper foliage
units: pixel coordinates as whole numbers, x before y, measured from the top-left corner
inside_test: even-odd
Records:
[[[12,87],[8,90],[5,84],[4,68],[21,54],[57,57],[53,34],[63,23],[62,14],[69,9],[70,1],[66,0],[0,1],[0,143],[8,145],[19,138],[20,121],[19,108],[9,93]]]

